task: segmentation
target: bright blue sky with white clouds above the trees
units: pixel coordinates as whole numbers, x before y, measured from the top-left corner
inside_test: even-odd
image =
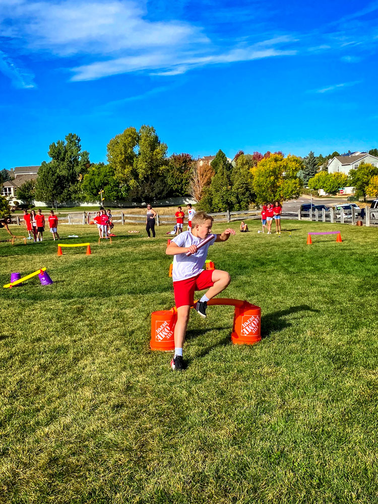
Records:
[[[168,153],[378,147],[378,2],[0,0],[0,169],[130,125]]]

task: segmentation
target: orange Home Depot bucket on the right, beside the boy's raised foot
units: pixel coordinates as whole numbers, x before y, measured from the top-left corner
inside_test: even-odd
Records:
[[[247,302],[242,306],[235,306],[231,340],[237,345],[253,345],[261,341],[260,306]]]

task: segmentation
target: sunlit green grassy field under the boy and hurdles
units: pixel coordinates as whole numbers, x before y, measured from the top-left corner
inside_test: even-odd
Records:
[[[232,307],[193,313],[183,373],[149,349],[150,313],[174,304],[167,227],[97,245],[93,226],[60,226],[91,256],[57,257],[49,233],[0,243],[3,284],[44,266],[54,281],[2,289],[0,502],[378,502],[377,230],[306,245],[335,226],[283,227],[210,247],[263,339],[230,343]]]

